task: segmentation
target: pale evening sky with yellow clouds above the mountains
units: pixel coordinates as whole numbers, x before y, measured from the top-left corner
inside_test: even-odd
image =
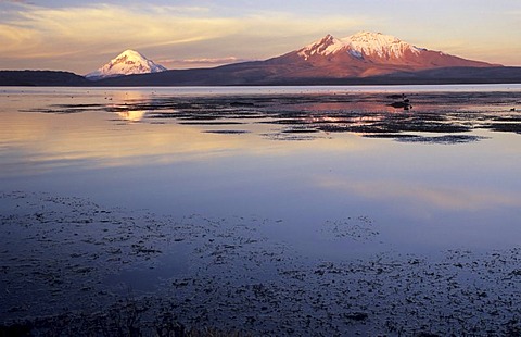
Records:
[[[0,70],[85,75],[126,49],[167,68],[208,67],[360,30],[521,66],[520,0],[0,0]]]

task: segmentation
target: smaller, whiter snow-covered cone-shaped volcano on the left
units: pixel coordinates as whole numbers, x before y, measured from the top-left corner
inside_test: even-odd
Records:
[[[166,71],[163,65],[156,64],[135,50],[125,50],[111,62],[106,63],[96,72],[87,74],[89,79],[101,79],[106,77],[150,74]]]

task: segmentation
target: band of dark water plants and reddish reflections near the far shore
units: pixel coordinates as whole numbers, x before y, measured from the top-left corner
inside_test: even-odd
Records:
[[[398,98],[396,98],[398,97]],[[519,91],[499,92],[346,92],[326,95],[148,96],[125,93],[124,104],[62,104],[34,112],[105,111],[128,121],[183,125],[228,125],[228,132],[254,132],[271,139],[310,140],[330,133],[427,143],[462,143],[485,139],[475,130],[521,134],[516,110]],[[147,112],[144,112],[147,111]],[[294,134],[288,136],[288,134]],[[295,136],[300,134],[301,136]],[[303,135],[307,134],[307,135]]]

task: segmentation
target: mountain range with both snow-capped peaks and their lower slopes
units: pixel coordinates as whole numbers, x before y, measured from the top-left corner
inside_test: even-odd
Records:
[[[3,77],[0,72],[0,85]],[[327,35],[265,61],[213,68],[167,71],[127,50],[86,78],[93,86],[521,83],[521,67],[467,60],[394,36],[360,32],[345,38]]]

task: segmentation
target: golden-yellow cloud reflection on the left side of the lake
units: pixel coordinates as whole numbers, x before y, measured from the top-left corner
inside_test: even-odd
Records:
[[[113,105],[114,107],[114,105]],[[142,111],[118,111],[127,121],[143,121]],[[322,141],[266,147],[270,126],[115,123],[113,113],[3,113],[0,133],[2,173],[28,174],[65,166],[84,168],[150,165],[233,158],[238,153],[288,155],[304,148],[319,150]],[[237,129],[244,126],[245,129]],[[356,138],[329,139],[328,151],[360,149]]]

